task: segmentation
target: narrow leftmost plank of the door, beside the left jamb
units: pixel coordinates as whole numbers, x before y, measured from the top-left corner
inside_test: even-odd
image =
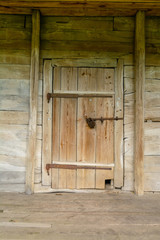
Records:
[[[53,75],[53,92],[60,90],[61,85],[61,68],[54,68]],[[52,161],[59,161],[59,144],[60,144],[60,99],[53,99],[53,121],[52,121]],[[52,188],[59,188],[59,170],[52,168]]]

